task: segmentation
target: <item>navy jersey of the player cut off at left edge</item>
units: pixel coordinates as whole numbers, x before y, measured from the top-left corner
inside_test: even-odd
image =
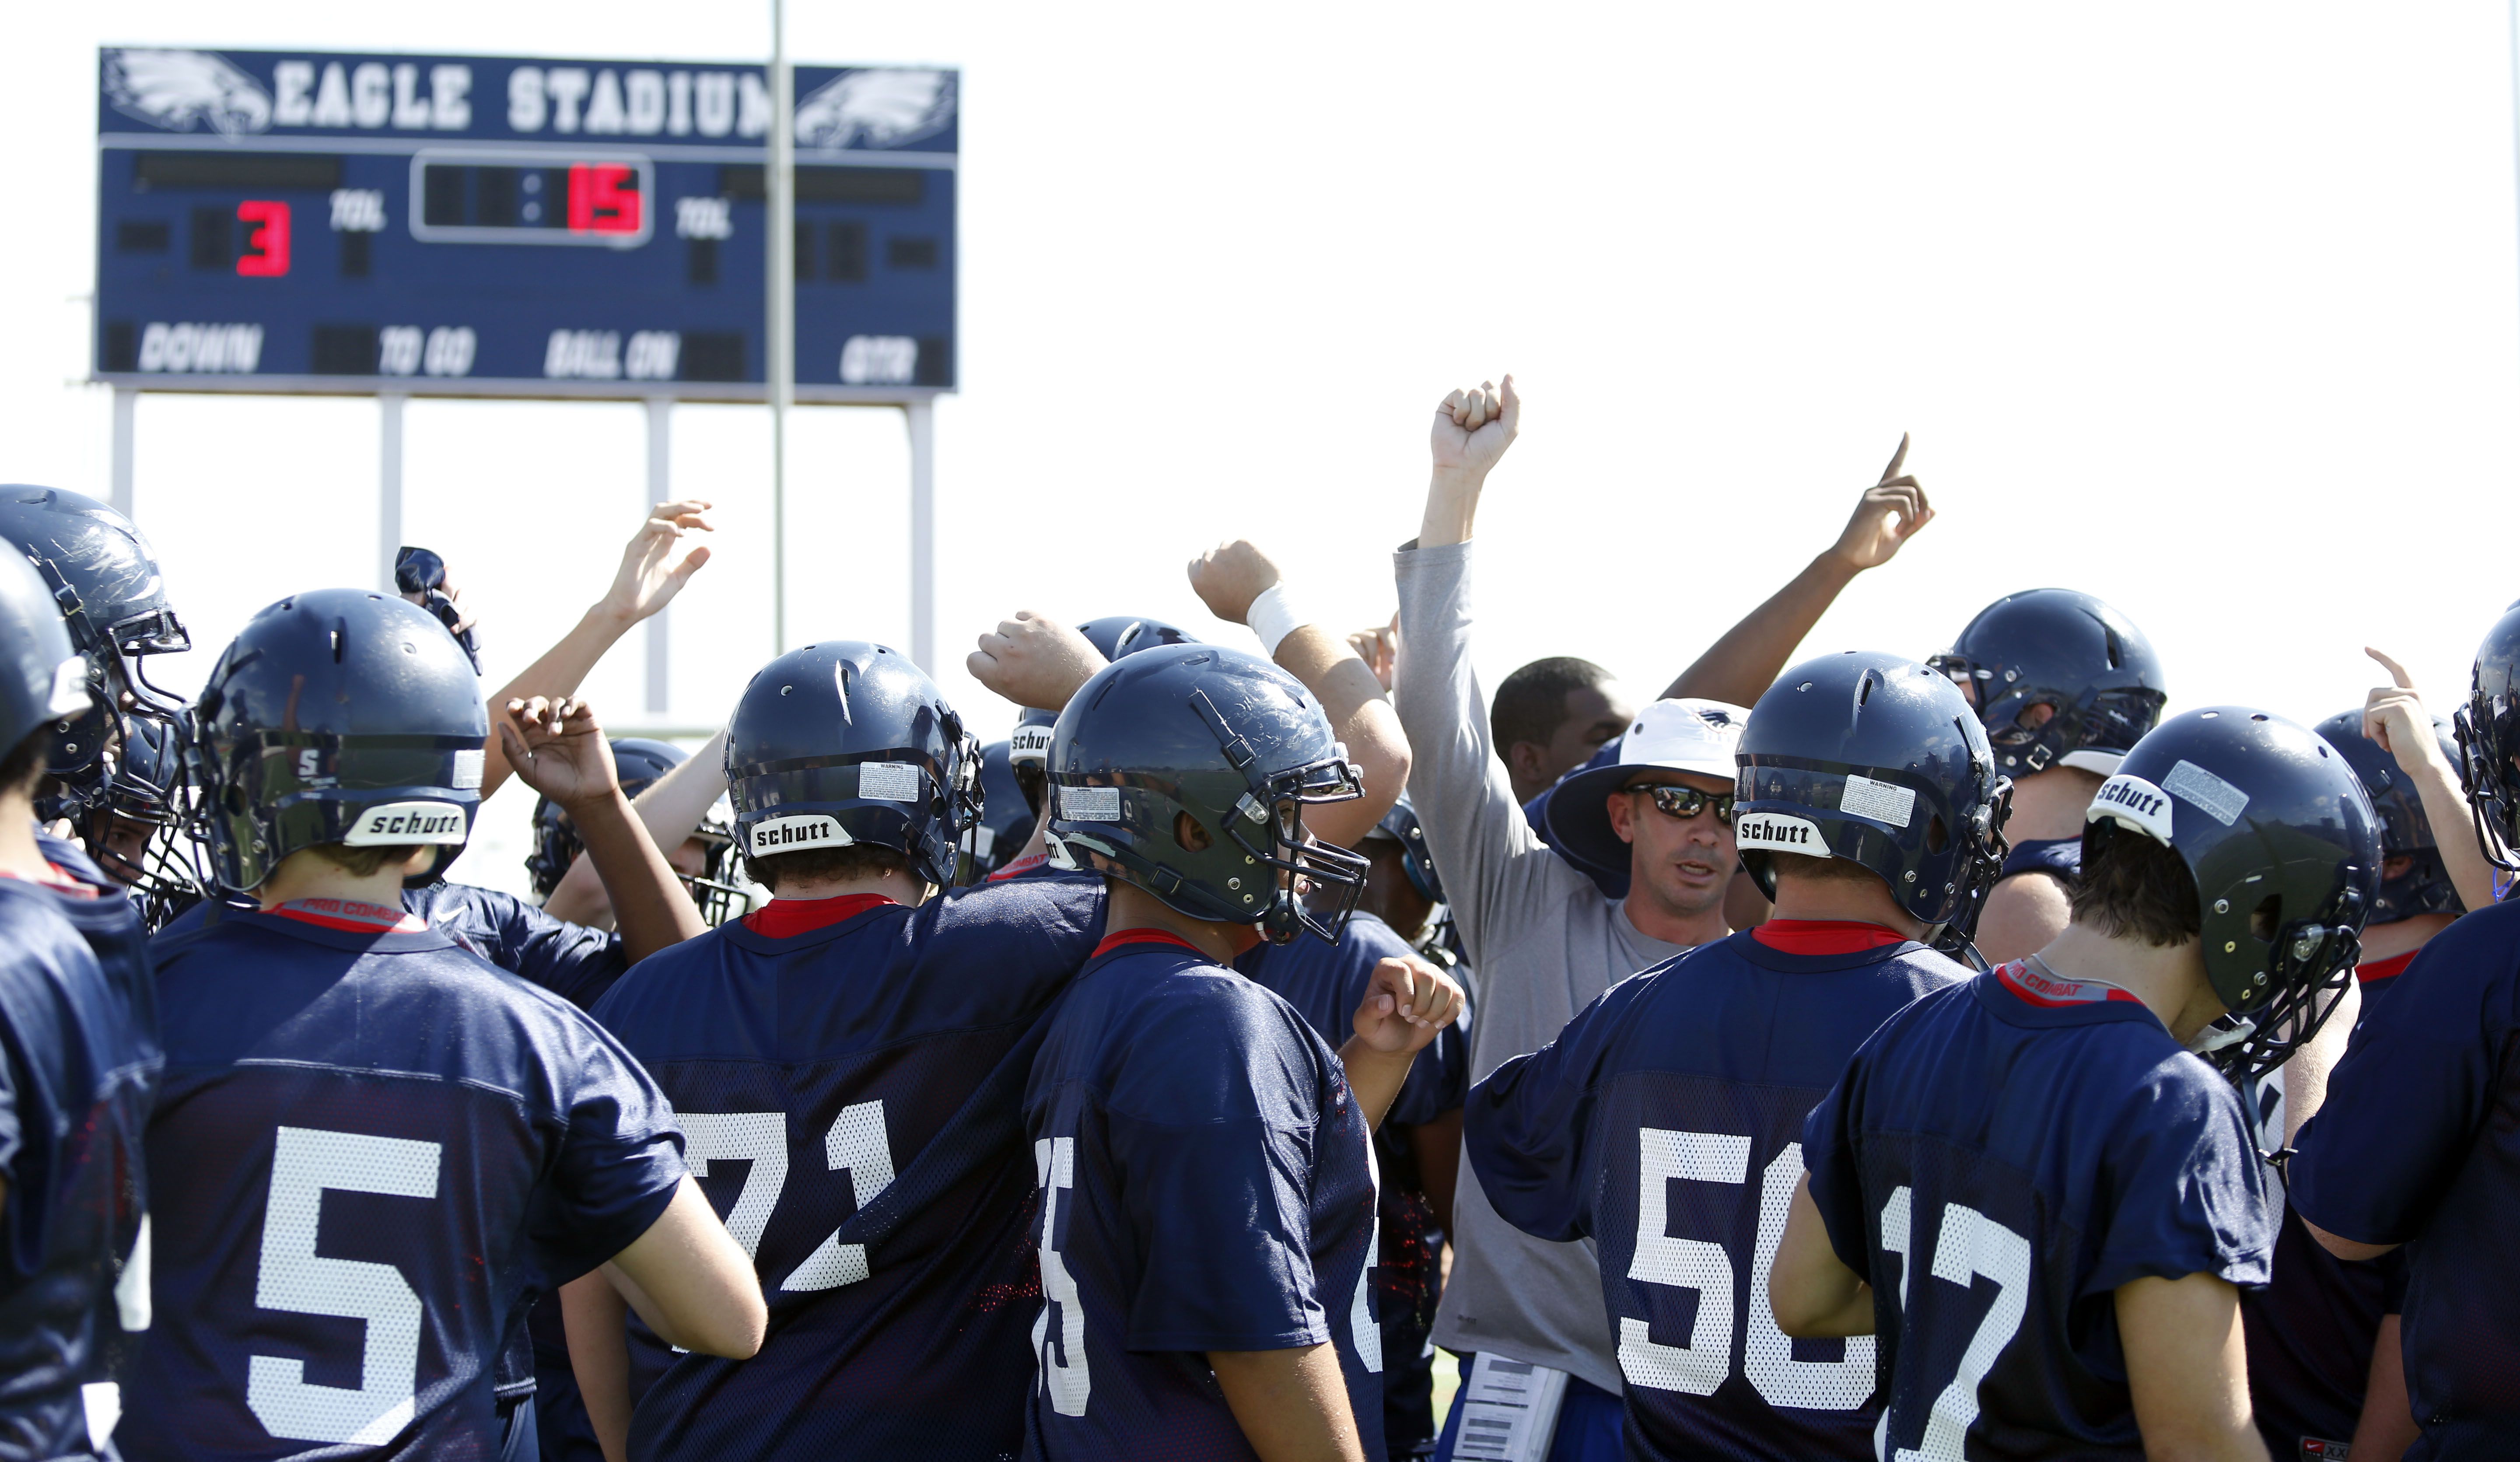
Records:
[[[139,915],[58,844],[91,897],[0,880],[0,1459],[103,1449],[149,1326],[141,1132],[159,1076]],[[126,1265],[131,1265],[126,1270]]]

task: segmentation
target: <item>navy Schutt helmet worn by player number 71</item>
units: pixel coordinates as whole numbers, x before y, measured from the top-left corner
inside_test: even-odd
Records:
[[[980,819],[980,744],[910,655],[822,640],[764,665],[726,726],[746,865],[811,847],[890,847],[950,887]],[[756,875],[759,877],[759,875]]]

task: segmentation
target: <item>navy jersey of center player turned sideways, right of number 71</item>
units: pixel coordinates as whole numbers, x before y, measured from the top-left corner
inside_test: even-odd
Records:
[[[1381,1457],[1373,1157],[1346,1071],[1270,991],[1129,935],[1061,998],[1023,1096],[1046,1190],[1023,1454],[1247,1459],[1207,1351],[1331,1344]]]

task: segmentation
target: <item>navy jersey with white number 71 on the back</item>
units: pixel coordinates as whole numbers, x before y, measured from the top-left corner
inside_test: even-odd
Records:
[[[1023,1444],[1041,1308],[1023,1084],[1101,938],[1104,882],[852,905],[789,938],[756,933],[761,915],[718,925],[595,1008],[673,1096],[771,1311],[751,1361],[678,1356],[648,1386],[633,1457],[980,1462]]]

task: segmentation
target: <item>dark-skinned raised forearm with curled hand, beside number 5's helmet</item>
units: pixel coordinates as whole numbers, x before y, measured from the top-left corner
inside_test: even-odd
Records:
[[[630,814],[612,769],[612,746],[595,723],[592,706],[542,696],[509,701],[499,708],[496,739],[527,786],[564,807],[577,824],[587,862],[605,880],[605,897],[620,918],[622,955],[630,963],[708,928],[673,865]]]

